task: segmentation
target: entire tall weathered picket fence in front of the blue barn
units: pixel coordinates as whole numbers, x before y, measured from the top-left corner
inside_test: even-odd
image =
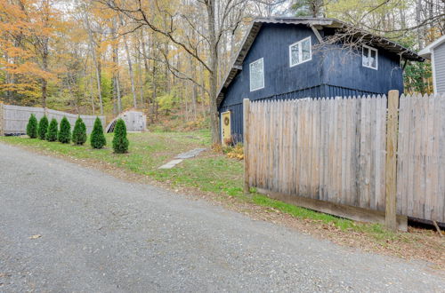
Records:
[[[402,96],[399,131],[397,103],[392,117],[387,105],[386,96],[246,99],[245,188],[346,218],[393,213],[394,227],[395,210],[444,222],[445,96]]]

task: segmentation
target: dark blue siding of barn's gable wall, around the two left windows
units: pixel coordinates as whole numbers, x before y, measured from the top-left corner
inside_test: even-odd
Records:
[[[222,106],[239,104],[242,99],[262,99],[277,93],[295,91],[322,83],[323,62],[317,53],[312,60],[289,67],[289,45],[311,36],[312,45],[317,38],[305,26],[264,25],[244,59],[243,70],[231,82]],[[264,88],[250,91],[249,64],[264,59]]]

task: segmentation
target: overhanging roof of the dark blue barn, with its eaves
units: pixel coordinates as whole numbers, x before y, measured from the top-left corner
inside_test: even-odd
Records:
[[[414,61],[424,61],[425,59],[416,52],[410,51],[408,48],[396,44],[383,36],[373,35],[365,30],[359,28],[354,28],[352,25],[347,24],[344,21],[330,19],[330,18],[295,18],[295,17],[279,17],[279,18],[259,18],[252,21],[250,28],[247,30],[247,35],[245,36],[241,48],[236,55],[235,60],[231,70],[228,72],[223,84],[221,85],[220,91],[218,91],[218,97],[216,103],[218,107],[223,102],[224,91],[229,87],[233,78],[242,69],[243,61],[247,56],[247,52],[255,41],[260,29],[263,24],[288,24],[288,25],[307,25],[308,27],[321,29],[321,28],[336,28],[342,31],[351,31],[353,35],[360,37],[363,42],[373,44],[376,47],[383,48],[387,51],[392,51],[397,54],[401,54],[404,59],[414,60]]]

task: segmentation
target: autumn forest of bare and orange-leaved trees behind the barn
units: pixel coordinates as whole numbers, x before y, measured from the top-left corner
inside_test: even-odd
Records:
[[[74,114],[128,108],[162,130],[220,136],[216,93],[257,17],[332,17],[418,51],[445,32],[442,0],[0,0],[0,100]],[[433,91],[408,63],[405,91]]]

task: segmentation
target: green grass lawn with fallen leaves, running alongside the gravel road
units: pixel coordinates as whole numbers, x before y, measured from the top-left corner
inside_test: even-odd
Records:
[[[189,151],[196,147],[210,146],[210,133],[208,131],[194,132],[146,132],[129,133],[130,149],[128,154],[113,154],[111,148],[112,135],[107,134],[107,147],[101,150],[86,146],[76,147],[63,145],[58,142],[47,142],[39,139],[25,137],[0,137],[1,142],[12,145],[28,147],[47,154],[69,156],[74,159],[89,162],[107,163],[114,168],[148,176],[158,182],[176,188],[191,188],[206,193],[216,194],[219,201],[230,200],[231,204],[250,205],[264,209],[271,214],[286,214],[287,217],[300,218],[311,222],[320,230],[320,227],[332,227],[334,233],[353,234],[365,237],[365,242],[371,246],[388,248],[392,243],[411,243],[414,249],[424,249],[419,244],[418,234],[390,233],[380,225],[356,223],[344,218],[336,218],[313,210],[296,207],[285,202],[272,200],[262,194],[243,194],[243,162],[230,159],[223,154],[216,154],[208,149],[197,158],[184,160],[171,170],[159,170],[158,167],[172,160],[176,154]],[[262,211],[262,212],[263,212]],[[324,233],[324,232],[323,232]],[[332,231],[330,231],[332,233]],[[433,236],[432,234],[428,234]],[[425,236],[425,235],[422,235]],[[437,237],[439,238],[439,237]],[[349,238],[348,238],[349,239]],[[355,240],[352,237],[353,240]],[[431,243],[430,243],[431,244]],[[362,246],[360,244],[360,246]],[[416,247],[415,247],[416,246]],[[441,242],[433,243],[431,249],[443,248]],[[399,249],[394,248],[395,251]],[[426,249],[430,250],[430,249]],[[416,255],[416,251],[413,252]],[[441,253],[441,251],[438,251]]]

